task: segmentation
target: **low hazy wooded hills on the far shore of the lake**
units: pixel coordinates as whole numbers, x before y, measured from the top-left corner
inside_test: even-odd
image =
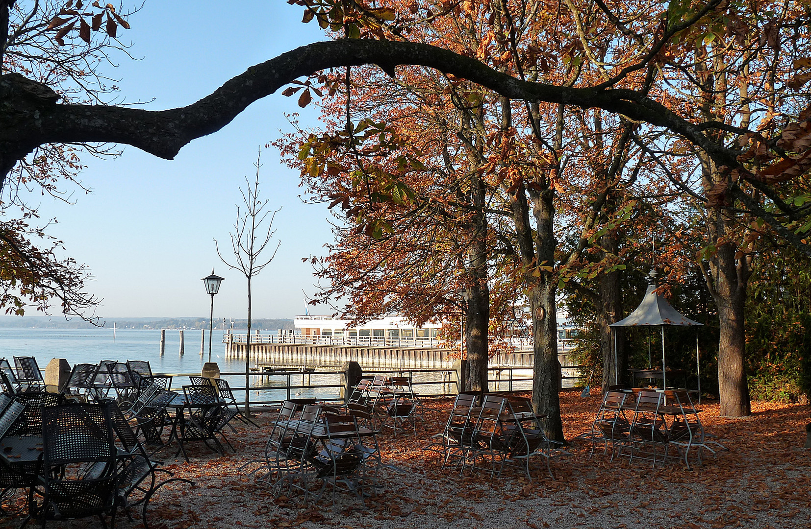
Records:
[[[105,329],[113,324],[118,329],[208,329],[208,318],[104,318],[99,321]],[[225,320],[225,328],[230,328],[230,320]],[[66,320],[59,316],[17,316],[0,317],[0,328],[28,329],[92,329],[93,326],[79,318]],[[222,318],[214,318],[214,328],[222,329]],[[234,330],[247,328],[247,319],[234,320]],[[292,329],[293,320],[283,318],[255,318],[251,321],[252,329],[277,330]]]

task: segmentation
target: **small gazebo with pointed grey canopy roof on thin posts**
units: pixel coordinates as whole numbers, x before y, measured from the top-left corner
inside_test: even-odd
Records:
[[[664,357],[664,326],[700,326],[703,323],[695,322],[686,316],[679,314],[667,300],[656,292],[656,271],[650,271],[650,284],[645,292],[645,297],[642,298],[642,303],[639,304],[627,318],[624,318],[616,323],[611,323],[611,327],[637,327],[637,326],[659,326],[662,331],[662,386],[667,388],[667,373],[665,370],[665,357]],[[648,352],[650,359],[650,351]],[[649,360],[650,361],[650,360]],[[616,384],[620,383],[620,372],[616,369],[617,353],[616,353],[616,332],[614,333],[614,365],[616,372]],[[696,368],[698,373],[698,395],[701,398],[702,381],[701,381],[701,365],[698,361],[698,336],[696,336]]]

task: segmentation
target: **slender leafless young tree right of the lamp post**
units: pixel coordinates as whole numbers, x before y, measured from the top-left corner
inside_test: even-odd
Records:
[[[248,331],[247,331],[247,345],[245,352],[245,415],[251,416],[250,404],[250,388],[251,388],[251,279],[259,275],[264,267],[276,257],[279,250],[281,241],[277,242],[276,248],[270,258],[261,256],[262,252],[268,247],[273,238],[276,230],[273,229],[273,220],[276,214],[281,211],[281,207],[277,210],[268,209],[268,199],[259,198],[259,173],[262,164],[262,149],[260,148],[259,156],[256,157],[254,167],[256,168],[255,181],[245,178],[247,184],[245,190],[239,188],[242,194],[242,206],[237,205],[237,220],[234,223],[234,232],[231,235],[231,250],[234,252],[234,260],[229,262],[220,253],[220,245],[217,244],[217,239],[214,239],[214,246],[217,248],[217,255],[222,262],[233,268],[234,270],[242,272],[248,281]],[[268,219],[268,215],[270,218]],[[265,223],[267,221],[267,223]]]

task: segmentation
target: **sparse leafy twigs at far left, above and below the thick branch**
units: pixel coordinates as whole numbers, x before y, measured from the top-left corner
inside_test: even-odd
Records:
[[[106,20],[105,20],[106,18]],[[99,67],[114,49],[118,28],[129,24],[108,4],[0,1],[0,74],[26,83],[30,96],[85,104],[114,100],[113,79]],[[21,77],[24,75],[24,77]],[[47,83],[50,91],[44,89]],[[8,100],[2,98],[2,104]],[[13,119],[3,121],[8,130]],[[86,143],[41,143],[6,165],[0,179],[0,307],[22,315],[27,306],[46,312],[56,301],[62,314],[96,322],[97,298],[84,292],[88,271],[71,258],[58,257],[62,242],[48,235],[28,194],[41,190],[67,200],[64,186],[79,186],[80,156],[114,155],[104,146]],[[19,211],[19,214],[17,213]]]

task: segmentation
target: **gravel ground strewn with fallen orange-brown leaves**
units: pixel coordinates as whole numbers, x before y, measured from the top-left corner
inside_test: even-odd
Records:
[[[590,459],[590,443],[575,437],[590,428],[598,406],[598,397],[580,399],[573,391],[561,395],[571,455],[552,462],[555,480],[538,467],[530,482],[515,469],[495,479],[484,471],[460,476],[453,469],[440,470],[439,456],[421,449],[442,429],[450,400],[431,401],[424,430],[396,438],[388,433],[381,440],[384,460],[405,472],[382,471],[384,488],[377,497],[362,501],[338,493],[334,507],[331,498],[304,507],[296,498],[277,499],[239,469],[263,453],[272,413],[262,412],[260,430],[238,427],[229,436],[235,454],[218,457],[193,446],[191,464],[174,459],[174,450],[156,454],[167,469],[197,486],[161,490],[150,504],[150,527],[811,527],[811,450],[803,448],[811,407],[753,403],[752,417],[734,420],[719,417],[717,403],[702,405],[706,430],[729,450],[688,471],[679,462],[655,469],[636,459],[610,463],[601,452]],[[8,510],[22,505],[21,495],[3,503]],[[19,527],[22,519],[0,518],[0,527]],[[122,515],[116,524],[143,527]],[[101,523],[88,518],[49,522],[48,527],[95,529]]]

